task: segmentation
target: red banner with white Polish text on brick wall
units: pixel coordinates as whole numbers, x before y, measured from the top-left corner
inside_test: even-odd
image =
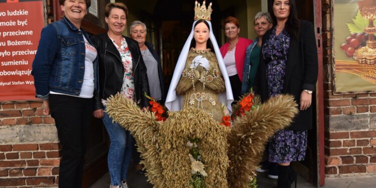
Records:
[[[43,27],[41,0],[0,0],[0,100],[36,99],[31,71]]]

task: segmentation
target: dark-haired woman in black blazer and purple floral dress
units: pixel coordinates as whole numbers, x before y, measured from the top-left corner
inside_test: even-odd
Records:
[[[286,93],[299,104],[293,123],[277,132],[269,146],[269,161],[278,163],[278,187],[290,187],[297,176],[290,162],[304,160],[307,130],[312,128],[317,48],[314,27],[297,19],[294,0],[271,0],[269,5],[274,27],[263,37],[254,90],[262,101]]]

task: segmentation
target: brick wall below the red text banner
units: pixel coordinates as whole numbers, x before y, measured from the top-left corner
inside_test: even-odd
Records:
[[[8,102],[0,109],[0,187],[57,186],[59,144],[42,102]]]

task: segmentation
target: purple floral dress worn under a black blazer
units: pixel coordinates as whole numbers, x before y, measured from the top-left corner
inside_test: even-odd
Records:
[[[278,36],[274,28],[268,41],[262,48],[262,54],[267,62],[266,78],[269,97],[282,93],[286,74],[287,55],[290,45],[290,35],[283,30]],[[306,130],[280,130],[269,142],[269,161],[288,163],[303,160],[307,148]]]

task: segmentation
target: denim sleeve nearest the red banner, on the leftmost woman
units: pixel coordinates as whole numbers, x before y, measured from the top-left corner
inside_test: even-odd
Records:
[[[32,65],[36,97],[42,100],[48,100],[49,98],[51,67],[59,46],[57,28],[53,24],[43,28],[37,54]]]

